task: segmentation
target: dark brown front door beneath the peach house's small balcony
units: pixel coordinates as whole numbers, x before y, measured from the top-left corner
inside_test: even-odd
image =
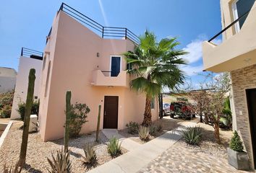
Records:
[[[117,128],[118,122],[118,97],[104,97],[103,128]]]

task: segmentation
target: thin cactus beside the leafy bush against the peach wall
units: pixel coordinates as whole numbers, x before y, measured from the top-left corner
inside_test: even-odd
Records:
[[[71,92],[66,93],[66,123],[65,123],[65,133],[64,133],[64,151],[68,151],[69,147],[69,123],[71,116]]]

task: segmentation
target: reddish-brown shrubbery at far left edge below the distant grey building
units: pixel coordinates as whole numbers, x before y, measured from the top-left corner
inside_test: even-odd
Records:
[[[0,94],[0,117],[11,117],[14,91]]]

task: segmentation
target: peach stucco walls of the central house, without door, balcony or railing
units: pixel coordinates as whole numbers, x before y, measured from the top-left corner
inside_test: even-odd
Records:
[[[90,107],[88,123],[83,125],[81,133],[96,130],[98,105],[104,105],[104,96],[119,97],[118,129],[125,128],[131,120],[142,122],[145,107],[145,97],[142,94],[131,92],[127,87],[91,84],[93,71],[109,71],[111,55],[121,56],[133,47],[133,43],[129,40],[99,37],[64,12],[56,15],[51,37],[46,45],[46,61],[44,60],[46,66],[43,68],[41,79],[39,120],[43,141],[62,138],[64,135],[67,90],[72,91],[72,103],[86,103]],[[51,68],[46,86],[50,61]],[[121,58],[121,70],[125,68],[124,58]],[[153,120],[158,118],[156,109],[158,107],[152,111]],[[103,108],[101,115],[103,116]],[[103,118],[101,118],[101,128],[103,128]]]

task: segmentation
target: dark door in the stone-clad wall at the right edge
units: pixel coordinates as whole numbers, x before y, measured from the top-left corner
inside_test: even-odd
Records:
[[[249,112],[249,126],[252,137],[252,151],[256,167],[256,89],[247,89],[247,106]]]

